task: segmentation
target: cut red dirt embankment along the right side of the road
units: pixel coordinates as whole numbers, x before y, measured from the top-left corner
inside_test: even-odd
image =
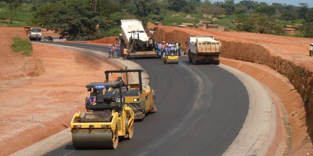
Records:
[[[308,57],[311,39],[166,26],[154,27],[153,30],[157,30],[154,34],[157,42],[184,44],[190,35],[214,36],[222,41],[222,57],[263,64],[287,77],[305,103],[292,88],[271,84],[271,81],[267,81],[269,84],[266,85],[272,86],[271,89],[280,97],[288,113],[293,132],[290,154],[303,155],[313,150],[310,136],[313,132],[313,58]]]

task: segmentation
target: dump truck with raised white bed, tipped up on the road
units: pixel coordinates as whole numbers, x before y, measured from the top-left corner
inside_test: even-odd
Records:
[[[155,50],[154,38],[149,38],[147,33],[153,35],[154,31],[145,31],[138,19],[122,19],[122,34],[118,37],[124,60],[140,57],[161,57]]]

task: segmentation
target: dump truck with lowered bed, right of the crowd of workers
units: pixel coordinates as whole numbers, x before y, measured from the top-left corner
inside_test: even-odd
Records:
[[[221,42],[213,36],[190,36],[188,59],[192,64],[219,64]]]

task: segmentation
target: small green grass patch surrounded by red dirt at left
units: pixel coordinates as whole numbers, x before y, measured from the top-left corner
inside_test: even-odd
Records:
[[[22,51],[25,56],[32,56],[33,52],[31,42],[20,37],[13,37],[12,49],[15,53]]]

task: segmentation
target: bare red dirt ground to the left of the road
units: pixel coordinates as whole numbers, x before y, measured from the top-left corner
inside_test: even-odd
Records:
[[[24,28],[0,28],[0,155],[8,155],[69,127],[85,110],[86,84],[118,69],[105,60],[55,46],[33,44],[33,54],[14,53],[12,38]]]

